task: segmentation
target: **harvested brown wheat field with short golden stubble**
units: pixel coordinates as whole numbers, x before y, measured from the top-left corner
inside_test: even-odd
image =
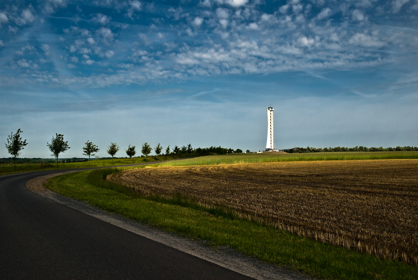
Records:
[[[418,265],[418,160],[160,166],[107,180],[182,193],[301,236]]]

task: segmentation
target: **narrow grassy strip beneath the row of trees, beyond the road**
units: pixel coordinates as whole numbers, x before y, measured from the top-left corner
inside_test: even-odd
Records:
[[[90,160],[90,162],[76,162],[76,163],[59,163],[58,168],[56,163],[21,163],[16,164],[16,171],[14,171],[13,163],[1,164],[0,175],[18,172],[38,171],[38,170],[52,170],[52,169],[70,169],[70,168],[87,168],[87,167],[100,167],[100,166],[112,166],[112,165],[125,165],[134,163],[155,162],[161,160],[173,160],[183,158],[181,156],[169,155],[159,157],[145,158],[118,158],[114,160]]]

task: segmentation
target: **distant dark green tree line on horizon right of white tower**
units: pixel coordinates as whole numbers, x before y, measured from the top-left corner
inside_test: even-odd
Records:
[[[334,148],[314,148],[314,147],[306,147],[306,148],[294,148],[286,150],[288,153],[321,153],[321,152],[394,152],[394,151],[418,151],[418,147],[410,147],[404,146],[400,147],[397,146],[396,148],[392,147],[363,147],[363,146],[355,146],[354,148],[347,148],[347,147],[334,147]]]

